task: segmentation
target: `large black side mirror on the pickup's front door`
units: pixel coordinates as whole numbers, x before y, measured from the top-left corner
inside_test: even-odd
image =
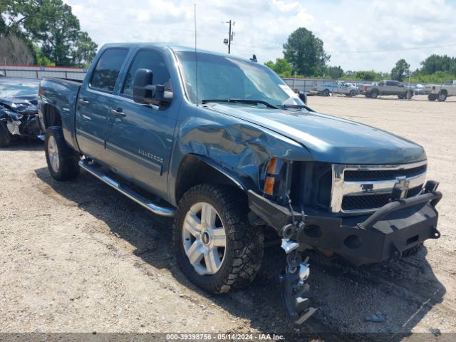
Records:
[[[165,86],[152,85],[153,73],[150,69],[138,69],[133,81],[133,100],[135,103],[164,105],[172,101],[172,92],[166,91]]]

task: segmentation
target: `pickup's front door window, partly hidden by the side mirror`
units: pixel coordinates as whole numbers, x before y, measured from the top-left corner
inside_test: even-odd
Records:
[[[133,97],[133,79],[138,69],[150,69],[153,73],[152,83],[162,84],[165,90],[172,91],[171,77],[160,53],[150,50],[141,50],[135,57],[135,61],[130,66],[125,84],[120,93],[129,98]]]

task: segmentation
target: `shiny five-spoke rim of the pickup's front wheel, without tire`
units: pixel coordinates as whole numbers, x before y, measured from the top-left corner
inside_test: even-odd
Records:
[[[222,267],[227,234],[219,213],[211,204],[192,205],[182,225],[182,244],[197,274],[216,274]]]

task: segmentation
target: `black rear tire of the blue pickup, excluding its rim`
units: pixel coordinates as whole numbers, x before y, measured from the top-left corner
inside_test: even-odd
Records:
[[[58,171],[53,170],[49,160],[48,145],[49,139],[53,137],[56,140],[58,147]],[[46,162],[48,170],[55,180],[73,180],[79,175],[81,167],[78,162],[81,160],[81,155],[71,147],[69,147],[63,138],[63,131],[60,126],[51,126],[46,130],[46,140],[44,140],[44,150],[46,152]]]

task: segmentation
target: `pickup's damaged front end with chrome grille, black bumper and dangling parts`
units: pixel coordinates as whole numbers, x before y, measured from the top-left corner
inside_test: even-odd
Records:
[[[272,158],[261,167],[260,191],[248,192],[250,219],[273,227],[282,239],[287,266],[279,279],[294,323],[316,311],[306,298],[309,259],[301,259],[303,250],[361,265],[400,258],[426,239],[440,237],[435,206],[442,194],[438,182],[425,182],[426,166],[424,160],[341,168]]]

